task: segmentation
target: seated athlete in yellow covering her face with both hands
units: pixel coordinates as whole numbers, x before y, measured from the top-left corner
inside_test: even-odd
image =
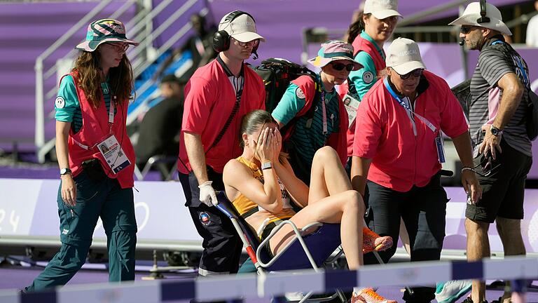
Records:
[[[298,229],[312,222],[340,223],[342,247],[350,269],[363,264],[363,253],[392,246],[392,238],[380,237],[365,227],[364,202],[352,190],[334,149],[322,147],[316,152],[309,189],[280,154],[282,137],[268,112],[254,110],[245,115],[240,136],[243,153],[226,163],[224,188],[237,212],[262,241],[282,220],[291,220]],[[302,209],[296,213],[290,200]],[[276,255],[293,236],[291,226],[284,226],[270,239],[270,253]],[[355,288],[352,299],[390,302],[380,299],[371,288]]]

